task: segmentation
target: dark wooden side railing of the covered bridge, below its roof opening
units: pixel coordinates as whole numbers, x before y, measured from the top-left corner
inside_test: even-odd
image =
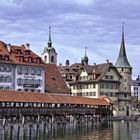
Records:
[[[71,107],[0,107],[0,116],[19,116],[19,115],[76,115],[76,114],[110,114],[109,108],[71,108]]]

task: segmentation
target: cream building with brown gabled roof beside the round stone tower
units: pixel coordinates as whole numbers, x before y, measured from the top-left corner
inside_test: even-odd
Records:
[[[77,79],[69,82],[73,96],[99,98],[108,96],[117,104],[121,75],[112,63],[84,65]]]

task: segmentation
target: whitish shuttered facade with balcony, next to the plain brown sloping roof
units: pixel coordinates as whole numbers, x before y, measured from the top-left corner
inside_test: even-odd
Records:
[[[42,67],[17,65],[15,68],[15,90],[44,93],[44,77],[45,70]]]

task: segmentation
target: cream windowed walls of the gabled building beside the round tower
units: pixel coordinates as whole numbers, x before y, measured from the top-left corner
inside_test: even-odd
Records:
[[[98,98],[106,95],[115,102],[119,93],[119,84],[120,75],[114,68],[109,68],[99,81],[94,80],[94,74],[88,75],[83,70],[80,74],[80,80],[70,85],[73,96]]]

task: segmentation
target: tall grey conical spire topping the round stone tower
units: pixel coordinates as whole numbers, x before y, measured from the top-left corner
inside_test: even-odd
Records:
[[[128,62],[128,59],[126,56],[126,50],[125,50],[124,23],[122,25],[122,39],[121,39],[119,57],[117,59],[115,66],[120,67],[120,68],[131,68],[131,66]]]

